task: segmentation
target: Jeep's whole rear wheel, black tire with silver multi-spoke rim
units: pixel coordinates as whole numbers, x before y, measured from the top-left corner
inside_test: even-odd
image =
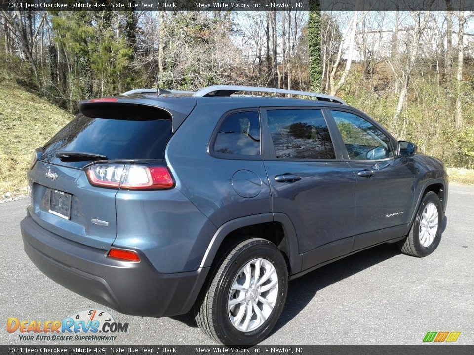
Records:
[[[260,265],[260,277],[254,283],[257,265]],[[267,280],[264,280],[265,276],[268,276]],[[231,289],[231,286],[234,288]],[[286,261],[275,244],[260,238],[244,240],[216,265],[207,287],[201,291],[194,307],[197,325],[217,343],[255,345],[265,339],[275,326],[283,310],[287,290]],[[264,304],[261,299],[267,303]],[[230,300],[234,300],[231,303],[235,304],[229,306]],[[255,307],[258,307],[260,314]],[[231,322],[231,317],[236,325]]]

